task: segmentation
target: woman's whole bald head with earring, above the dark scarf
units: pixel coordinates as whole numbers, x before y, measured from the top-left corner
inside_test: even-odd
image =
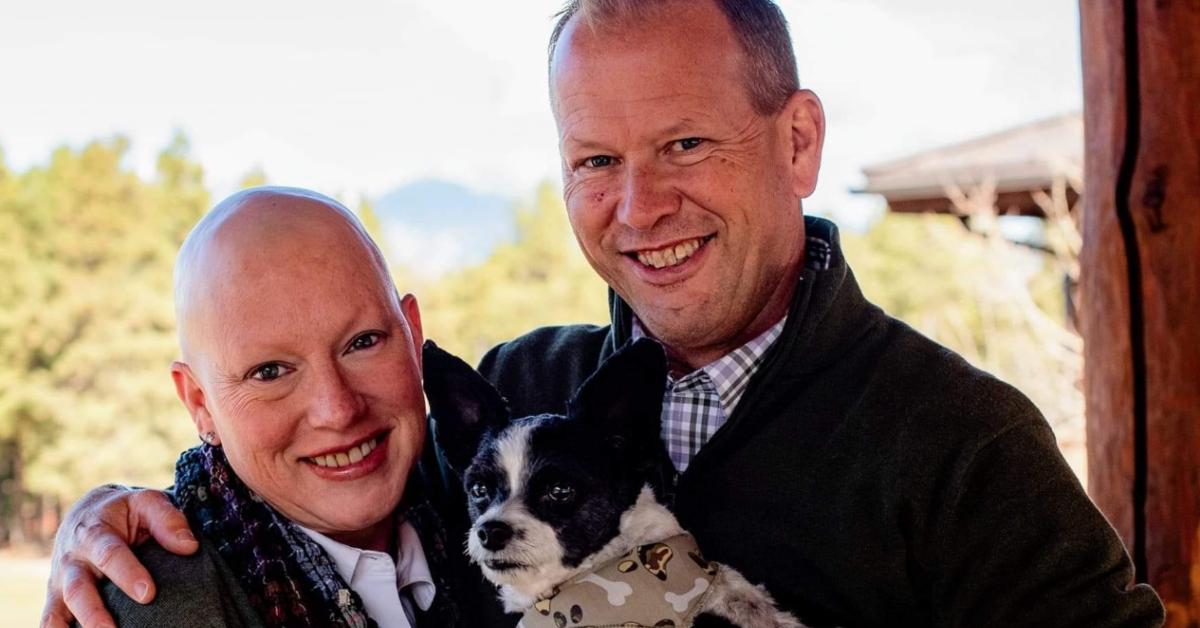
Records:
[[[386,549],[425,442],[422,336],[354,215],[306,190],[239,192],[187,237],[175,304],[172,377],[197,431],[284,516]]]

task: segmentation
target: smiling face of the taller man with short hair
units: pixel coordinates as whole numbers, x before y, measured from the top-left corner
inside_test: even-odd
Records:
[[[816,161],[797,174],[794,103],[758,114],[742,59],[719,8],[676,2],[620,29],[572,22],[552,67],[580,246],[655,337],[703,357],[691,366],[786,311],[816,179]]]

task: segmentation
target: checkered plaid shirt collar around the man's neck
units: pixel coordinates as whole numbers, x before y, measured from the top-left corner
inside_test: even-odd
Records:
[[[833,247],[824,238],[809,235],[804,247],[804,265],[811,270],[828,270],[833,253]],[[756,336],[750,342],[726,353],[724,357],[709,363],[700,369],[674,378],[667,376],[667,388],[686,387],[690,381],[698,379],[700,375],[707,375],[716,388],[721,399],[721,407],[725,417],[733,414],[733,408],[742,400],[742,395],[750,383],[750,377],[758,370],[767,349],[779,340],[784,333],[784,324],[787,317],[780,318],[778,323]],[[642,322],[635,316],[632,321],[631,340],[648,336]]]

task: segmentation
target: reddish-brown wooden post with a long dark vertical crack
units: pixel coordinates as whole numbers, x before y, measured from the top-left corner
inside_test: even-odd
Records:
[[[1088,492],[1200,627],[1200,0],[1080,0]]]

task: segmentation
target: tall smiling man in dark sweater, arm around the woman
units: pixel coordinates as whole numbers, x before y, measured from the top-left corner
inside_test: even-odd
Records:
[[[488,353],[514,415],[563,412],[602,359],[650,336],[672,365],[664,497],[707,556],[806,624],[1162,622],[1037,408],[868,303],[836,228],[803,215],[824,118],[774,4],[571,2],[550,80],[570,221],[612,323]],[[442,486],[464,538],[458,482]],[[68,524],[97,528],[136,500],[154,501],[95,494]],[[152,518],[156,538],[172,516]],[[65,586],[100,617],[89,563],[132,536],[60,544],[50,616]],[[113,555],[100,570],[122,587],[144,578]]]

